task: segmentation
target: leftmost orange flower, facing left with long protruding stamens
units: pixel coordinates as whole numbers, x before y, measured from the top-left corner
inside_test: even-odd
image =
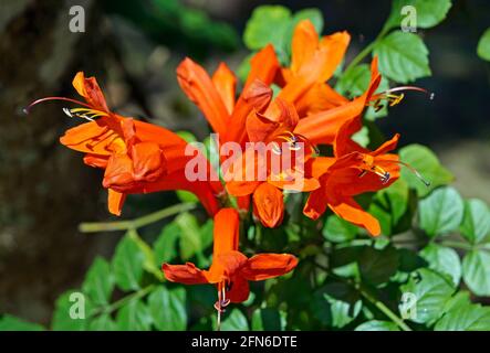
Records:
[[[111,213],[121,214],[127,194],[173,189],[196,193],[210,214],[218,211],[215,195],[222,192],[221,184],[189,182],[186,179],[185,165],[191,157],[185,154],[185,140],[161,127],[110,111],[94,77],[85,78],[80,72],[73,79],[73,86],[86,104],[71,98],[49,97],[34,101],[30,107],[53,99],[82,106],[63,109],[71,117],[88,121],[67,130],[60,141],[85,153],[87,165],[105,170],[102,184],[108,190]],[[200,152],[196,150],[195,153]]]

